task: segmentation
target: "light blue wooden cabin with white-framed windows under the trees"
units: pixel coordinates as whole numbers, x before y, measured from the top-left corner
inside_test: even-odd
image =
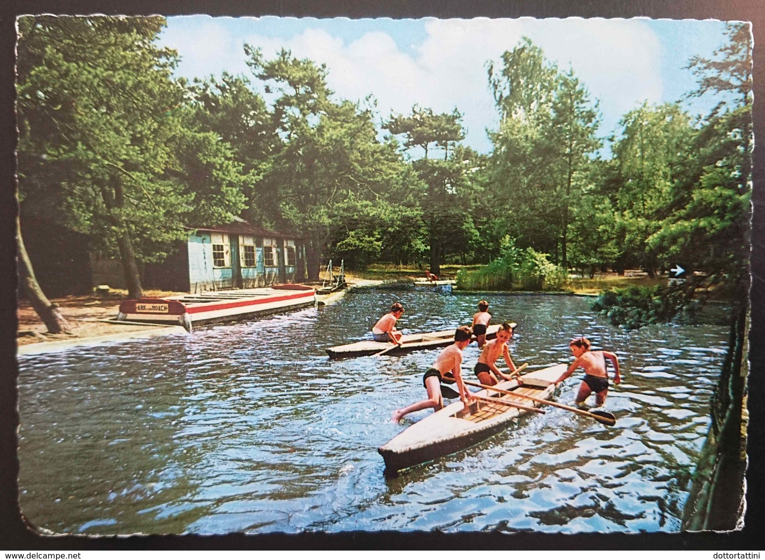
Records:
[[[305,246],[300,236],[277,233],[236,219],[190,228],[188,241],[161,264],[147,263],[144,287],[198,294],[303,282]]]

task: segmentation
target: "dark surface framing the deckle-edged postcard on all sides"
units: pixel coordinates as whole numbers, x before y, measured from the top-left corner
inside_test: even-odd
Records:
[[[531,532],[500,533],[348,532],[229,535],[146,536],[126,539],[43,537],[27,529],[18,509],[16,483],[16,272],[15,272],[15,116],[14,57],[15,16],[51,13],[60,15],[277,15],[315,18],[672,18],[744,20],[754,24],[754,220],[752,228],[752,285],[749,376],[749,467],[745,527],[728,533],[619,533],[550,535]],[[765,2],[750,0],[218,0],[177,2],[122,2],[80,0],[29,0],[0,3],[0,550],[91,549],[698,549],[729,551],[765,549],[762,531],[763,456],[765,456]],[[468,548],[469,547],[469,548]]]

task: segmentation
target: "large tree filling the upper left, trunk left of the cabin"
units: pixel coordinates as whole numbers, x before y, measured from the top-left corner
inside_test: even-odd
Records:
[[[187,223],[241,210],[239,170],[216,135],[184,128],[177,54],[155,45],[164,18],[18,26],[22,217],[47,213],[118,252],[141,297],[139,261],[164,258]]]

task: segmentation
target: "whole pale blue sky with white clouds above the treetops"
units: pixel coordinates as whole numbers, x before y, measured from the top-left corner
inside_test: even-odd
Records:
[[[487,62],[500,60],[521,37],[541,47],[562,70],[569,68],[599,103],[599,135],[618,132],[624,113],[647,101],[682,99],[693,115],[706,114],[715,96],[685,99],[696,80],[685,69],[694,55],[710,57],[724,42],[724,22],[634,19],[168,18],[160,43],[178,51],[177,76],[193,79],[229,73],[252,77],[243,44],[265,57],[286,48],[327,65],[336,99],[371,94],[378,125],[416,103],[435,112],[464,113],[464,143],[488,153],[486,130],[499,113],[487,80]],[[259,80],[253,80],[258,82]],[[256,90],[259,85],[256,86]],[[604,155],[608,155],[605,149]]]

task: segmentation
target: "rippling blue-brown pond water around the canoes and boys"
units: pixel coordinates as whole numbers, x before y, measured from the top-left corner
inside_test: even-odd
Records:
[[[529,369],[584,335],[620,358],[617,428],[548,409],[386,480],[394,409],[438,350],[330,361],[392,301],[406,331],[470,322],[481,295],[360,291],[321,310],[21,357],[21,510],[89,535],[302,530],[676,531],[727,347],[722,325],[611,327],[584,298],[487,295]],[[473,345],[467,365],[477,359]],[[501,365],[501,364],[500,364]],[[558,396],[571,403],[581,372]]]

